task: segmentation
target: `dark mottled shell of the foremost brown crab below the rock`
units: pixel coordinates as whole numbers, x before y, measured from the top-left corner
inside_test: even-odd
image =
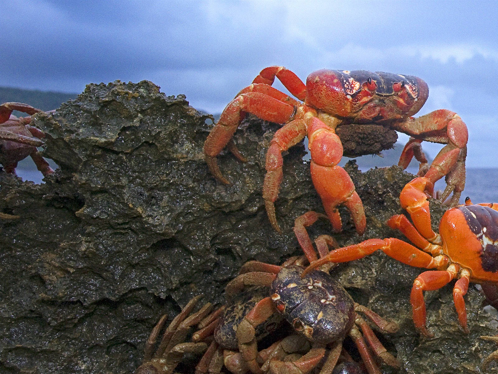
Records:
[[[286,266],[271,285],[271,298],[285,319],[309,340],[327,344],[342,340],[351,330],[354,301],[329,274]]]

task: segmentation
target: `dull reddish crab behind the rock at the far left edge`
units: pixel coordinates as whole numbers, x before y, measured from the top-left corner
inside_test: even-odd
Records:
[[[43,145],[40,140],[45,134],[29,126],[31,117],[17,118],[12,111],[18,110],[32,116],[41,112],[22,103],[3,103],[0,105],[0,164],[7,173],[15,174],[17,163],[31,156],[38,170],[44,175],[53,173],[48,163],[40,156],[36,147]]]

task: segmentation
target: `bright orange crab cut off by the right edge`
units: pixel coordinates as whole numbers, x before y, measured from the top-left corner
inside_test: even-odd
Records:
[[[498,204],[473,204],[467,197],[465,204],[443,214],[437,234],[431,228],[425,191],[432,193],[433,184],[428,178],[419,177],[409,182],[399,195],[401,206],[408,211],[413,224],[403,214],[393,215],[387,221],[389,227],[399,229],[415,246],[396,238],[365,240],[313,261],[303,276],[327,262],[357,260],[380,249],[407,265],[437,269],[420,274],[410,295],[415,327],[425,336],[432,334],[426,328],[423,291],[437,290],[458,278],[453,300],[460,325],[468,333],[463,297],[469,282],[498,282]]]

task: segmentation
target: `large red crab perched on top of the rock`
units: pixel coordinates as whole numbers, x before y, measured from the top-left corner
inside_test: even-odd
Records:
[[[271,87],[275,77],[302,102]],[[311,178],[334,230],[342,228],[337,207],[345,204],[357,232],[363,234],[366,218],[362,201],[349,175],[338,166],[343,147],[335,129],[341,125],[373,123],[410,135],[398,165],[406,168],[415,156],[421,163],[420,174],[432,184],[446,176],[447,187],[441,200],[453,192],[449,203],[458,203],[465,186],[467,127],[460,116],[445,109],[411,117],[424,105],[428,92],[422,79],[409,75],[319,70],[308,76],[305,85],[284,67],[267,67],[227,105],[206,139],[205,159],[213,176],[228,184],[216,156],[228,146],[238,159],[245,161],[231,140],[245,114],[284,124],[275,133],[266,154],[263,198],[273,228],[280,232],[274,202],[283,176],[281,153],[307,135]],[[424,140],[446,144],[429,168],[420,146]]]

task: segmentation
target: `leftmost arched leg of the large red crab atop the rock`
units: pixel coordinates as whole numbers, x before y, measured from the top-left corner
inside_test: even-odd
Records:
[[[260,92],[248,92],[232,100],[204,143],[206,163],[213,176],[226,185],[230,184],[221,174],[216,156],[232,139],[246,112],[265,121],[286,123],[294,115],[294,111],[295,106]]]

